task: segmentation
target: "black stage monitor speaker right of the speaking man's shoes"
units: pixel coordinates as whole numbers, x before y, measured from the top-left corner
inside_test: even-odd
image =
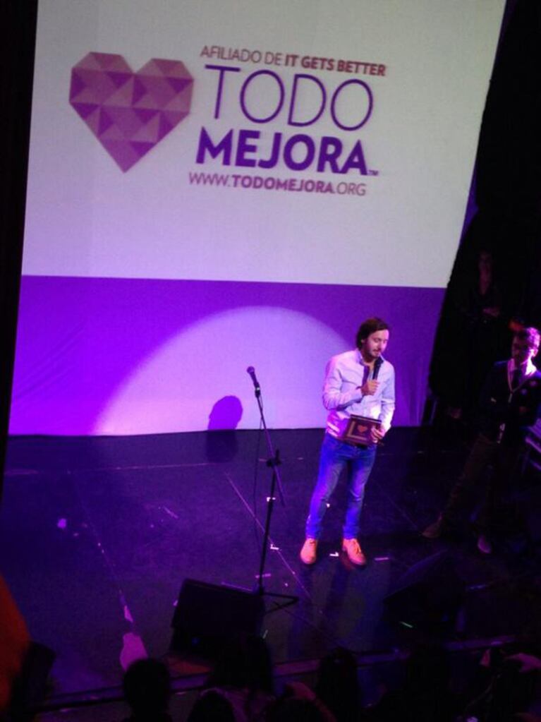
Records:
[[[464,583],[446,552],[414,564],[385,598],[387,613],[406,627],[446,632],[454,627],[464,599]]]

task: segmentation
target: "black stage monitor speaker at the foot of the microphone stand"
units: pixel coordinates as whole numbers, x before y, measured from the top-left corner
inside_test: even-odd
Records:
[[[259,634],[264,611],[257,593],[185,579],[171,622],[171,651],[215,658],[239,634]]]

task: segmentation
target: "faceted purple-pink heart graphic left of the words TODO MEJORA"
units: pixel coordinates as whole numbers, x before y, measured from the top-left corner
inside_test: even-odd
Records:
[[[192,90],[178,60],[134,73],[121,55],[89,53],[71,70],[69,102],[126,172],[188,115]]]

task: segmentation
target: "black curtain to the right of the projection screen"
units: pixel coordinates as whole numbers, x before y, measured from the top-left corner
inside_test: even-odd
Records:
[[[431,362],[431,390],[457,415],[475,408],[488,367],[509,357],[511,330],[541,326],[541,4],[516,0],[506,21],[480,129],[477,209],[457,253]],[[491,283],[483,296],[487,263]]]

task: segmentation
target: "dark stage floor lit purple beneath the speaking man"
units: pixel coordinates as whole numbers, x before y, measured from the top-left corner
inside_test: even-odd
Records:
[[[320,658],[337,645],[360,654],[399,647],[408,618],[388,614],[384,599],[405,573],[430,579],[430,557],[439,552],[464,589],[449,640],[521,631],[529,617],[524,588],[535,586],[539,571],[526,528],[508,531],[488,558],[468,534],[439,541],[419,534],[462,466],[462,440],[393,429],[366,492],[361,545],[369,564],[353,568],[340,553],[341,483],[320,558],[306,568],[299,549],[322,431],[271,435],[285,505],[274,507],[264,586],[299,597],[265,615],[276,664]],[[32,637],[56,651],[54,694],[115,687],[133,656],[164,656],[185,578],[252,591],[271,481],[267,456],[255,431],[9,440],[1,569]],[[531,480],[516,490],[529,510],[532,495],[539,501]],[[272,598],[265,602],[272,609]]]

